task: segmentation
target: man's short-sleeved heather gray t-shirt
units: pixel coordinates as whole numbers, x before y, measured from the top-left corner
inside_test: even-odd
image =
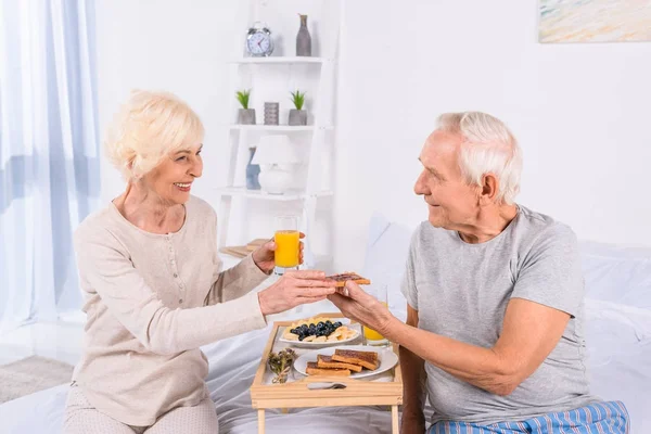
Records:
[[[432,423],[519,421],[595,400],[585,363],[578,243],[567,226],[519,205],[499,235],[469,244],[458,232],[424,221],[411,240],[403,293],[419,311],[420,329],[485,348],[497,342],[511,297],[572,316],[556,348],[509,396],[426,362]]]

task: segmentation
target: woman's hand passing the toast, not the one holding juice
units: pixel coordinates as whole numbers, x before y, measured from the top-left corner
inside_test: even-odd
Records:
[[[334,294],[335,281],[317,270],[288,271],[278,282],[258,293],[263,315],[278,314]]]

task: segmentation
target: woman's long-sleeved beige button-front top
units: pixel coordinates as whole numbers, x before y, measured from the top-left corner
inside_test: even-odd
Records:
[[[137,426],[208,396],[201,345],[266,326],[251,256],[221,271],[217,216],[191,196],[176,233],[131,225],[113,203],[75,232],[87,314],[73,380],[98,410]]]

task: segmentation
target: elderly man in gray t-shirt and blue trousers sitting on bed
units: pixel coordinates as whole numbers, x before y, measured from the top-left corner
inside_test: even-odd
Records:
[[[403,283],[407,323],[347,282],[331,301],[400,346],[401,432],[625,433],[620,401],[591,396],[576,237],[513,202],[521,152],[484,113],[451,113],[420,154],[416,230]]]

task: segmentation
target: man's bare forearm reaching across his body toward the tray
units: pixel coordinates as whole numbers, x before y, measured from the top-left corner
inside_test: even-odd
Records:
[[[498,395],[512,392],[513,375],[509,363],[501,360],[500,356],[490,348],[455,341],[398,320],[387,326],[384,333],[392,342],[400,345],[400,350],[405,347],[416,357],[431,362],[462,381]]]

